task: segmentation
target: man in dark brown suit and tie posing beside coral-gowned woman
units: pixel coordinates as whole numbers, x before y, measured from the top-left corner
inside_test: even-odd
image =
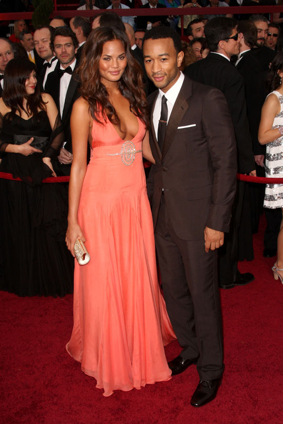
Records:
[[[215,398],[224,371],[216,249],[229,229],[236,143],[225,97],[180,72],[181,49],[170,28],[145,34],[145,67],[158,88],[148,98],[148,188],[166,307],[183,347],[169,367],[175,375],[197,363],[191,404],[200,407]]]

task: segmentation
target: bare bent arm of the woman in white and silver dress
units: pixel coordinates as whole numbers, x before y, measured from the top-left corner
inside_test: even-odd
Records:
[[[278,128],[273,128],[272,125],[275,116],[280,112],[280,102],[275,94],[267,97],[261,109],[261,118],[258,128],[259,144],[268,144],[282,137]]]

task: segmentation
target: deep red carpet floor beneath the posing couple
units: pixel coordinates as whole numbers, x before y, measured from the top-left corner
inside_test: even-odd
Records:
[[[283,421],[283,285],[263,259],[263,220],[255,260],[240,264],[256,280],[221,290],[225,373],[217,398],[190,406],[196,366],[170,381],[109,398],[65,351],[72,296],[18,298],[0,292],[3,424],[281,424]],[[178,355],[177,342],[166,348]]]

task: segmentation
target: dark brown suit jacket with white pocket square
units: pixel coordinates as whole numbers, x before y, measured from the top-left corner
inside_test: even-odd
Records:
[[[185,77],[160,151],[153,126],[158,91],[149,98],[150,146],[155,159],[152,214],[156,226],[162,189],[178,237],[203,239],[206,226],[228,231],[236,189],[236,142],[221,91]]]

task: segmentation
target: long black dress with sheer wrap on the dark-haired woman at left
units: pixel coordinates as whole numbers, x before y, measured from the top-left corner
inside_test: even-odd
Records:
[[[67,250],[67,191],[62,183],[42,183],[52,171],[42,157],[57,160],[63,142],[60,118],[51,129],[44,110],[30,119],[0,114],[0,289],[18,296],[60,296],[73,292],[74,258]],[[41,150],[24,156],[5,153],[19,136],[44,137]],[[27,141],[27,140],[26,140]],[[34,139],[36,141],[36,138]]]

